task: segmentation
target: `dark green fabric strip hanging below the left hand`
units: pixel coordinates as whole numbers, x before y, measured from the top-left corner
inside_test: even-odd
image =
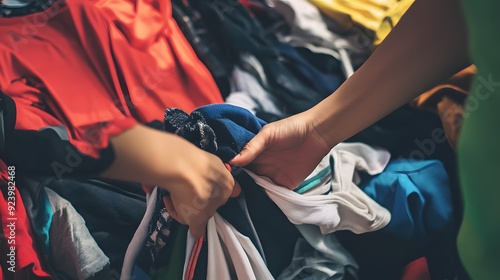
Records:
[[[153,280],[182,280],[184,260],[186,258],[186,240],[189,227],[179,225],[171,247],[167,248],[163,266],[158,269],[151,268],[149,276]]]

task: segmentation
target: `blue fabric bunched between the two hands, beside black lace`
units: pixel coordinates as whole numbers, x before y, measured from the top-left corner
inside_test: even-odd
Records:
[[[212,104],[200,107],[201,113],[217,137],[215,154],[228,162],[235,157],[266,122],[247,109],[229,104]]]

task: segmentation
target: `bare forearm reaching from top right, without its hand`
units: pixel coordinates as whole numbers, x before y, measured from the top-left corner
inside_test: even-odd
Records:
[[[329,146],[468,65],[460,3],[415,1],[363,66],[331,96],[303,113]]]

